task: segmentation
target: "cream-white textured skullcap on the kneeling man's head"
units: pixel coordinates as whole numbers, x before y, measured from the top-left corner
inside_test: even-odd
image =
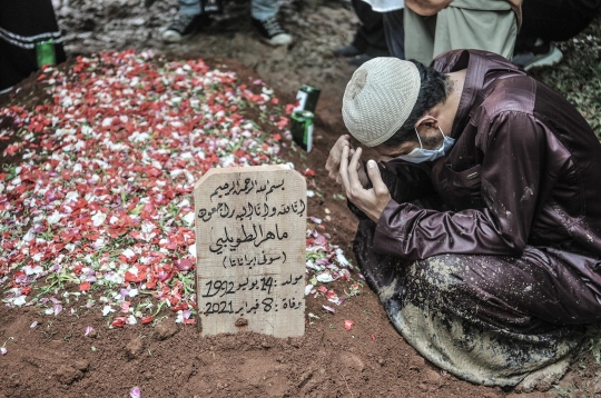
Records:
[[[374,58],[358,68],[346,84],[343,119],[353,137],[366,147],[391,138],[407,120],[421,78],[413,62]]]

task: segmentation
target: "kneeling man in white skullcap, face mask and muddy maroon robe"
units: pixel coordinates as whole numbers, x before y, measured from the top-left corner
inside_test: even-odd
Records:
[[[574,107],[500,56],[457,50],[431,68],[364,63],[343,117],[384,160],[343,136],[326,169],[405,340],[489,386],[565,370],[601,320],[601,145]]]

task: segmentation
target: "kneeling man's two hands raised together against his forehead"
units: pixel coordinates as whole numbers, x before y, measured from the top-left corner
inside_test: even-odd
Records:
[[[373,188],[365,189],[363,187],[365,181],[362,183],[361,180],[364,178],[359,179],[359,175],[363,172],[361,153],[361,148],[352,149],[348,136],[342,136],[329,152],[326,170],[329,172],[329,178],[342,183],[348,200],[374,222],[377,222],[380,215],[391,200],[391,193],[382,180],[380,169],[374,160],[367,161],[367,175],[372,180]]]

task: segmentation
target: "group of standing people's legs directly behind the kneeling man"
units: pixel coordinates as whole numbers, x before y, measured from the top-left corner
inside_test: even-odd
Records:
[[[562,59],[553,44],[581,32],[599,14],[599,0],[353,0],[362,22],[354,41],[334,50],[361,64],[388,51],[430,63],[456,49],[499,53],[530,70]]]

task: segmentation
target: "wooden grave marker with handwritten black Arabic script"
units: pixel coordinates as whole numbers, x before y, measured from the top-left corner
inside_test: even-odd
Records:
[[[287,166],[211,169],[196,182],[194,205],[201,336],[303,336],[303,176]]]

